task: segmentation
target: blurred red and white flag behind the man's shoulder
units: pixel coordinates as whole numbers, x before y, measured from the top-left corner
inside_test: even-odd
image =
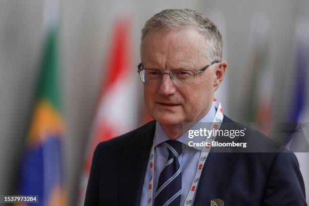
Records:
[[[129,18],[120,17],[114,25],[114,36],[109,50],[108,65],[103,73],[105,84],[98,100],[80,184],[80,201],[83,205],[95,146],[124,134],[137,125],[137,72],[131,64]],[[133,76],[134,75],[134,76]],[[135,77],[135,78],[133,78]]]

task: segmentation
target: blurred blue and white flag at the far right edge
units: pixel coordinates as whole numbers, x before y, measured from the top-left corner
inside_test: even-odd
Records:
[[[299,19],[296,24],[295,34],[295,77],[294,88],[291,93],[291,108],[288,122],[299,122],[301,132],[295,132],[288,143],[299,162],[302,173],[306,196],[309,195],[309,21]],[[295,124],[296,125],[296,124]],[[297,152],[298,151],[298,152]]]

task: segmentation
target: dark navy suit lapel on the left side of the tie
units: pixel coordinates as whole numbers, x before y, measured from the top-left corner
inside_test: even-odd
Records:
[[[132,134],[127,145],[124,145],[119,168],[119,205],[140,204],[155,128],[156,122],[150,122],[144,131]]]

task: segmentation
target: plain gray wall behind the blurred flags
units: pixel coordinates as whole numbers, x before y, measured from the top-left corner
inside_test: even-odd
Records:
[[[0,194],[12,194],[29,126],[42,44],[41,4],[39,0],[0,0]],[[253,15],[266,15],[270,20],[270,56],[275,69],[274,121],[285,120],[290,104],[295,22],[298,18],[309,19],[309,3],[305,0],[63,0],[61,83],[67,122],[65,161],[70,205],[76,205],[85,145],[108,58],[115,11],[121,8],[132,13],[136,65],[140,30],[153,14],[168,8],[190,8],[205,16],[220,11],[226,19],[224,49],[229,63],[230,95],[225,107],[228,107],[227,115],[236,121],[244,120],[241,101],[249,72],[247,52]],[[137,92],[141,94],[141,90]]]

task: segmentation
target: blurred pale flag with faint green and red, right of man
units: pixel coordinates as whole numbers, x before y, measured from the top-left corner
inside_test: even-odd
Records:
[[[255,16],[250,27],[250,66],[248,96],[245,106],[246,122],[270,123],[274,71],[269,61],[269,25],[265,16]],[[270,134],[270,124],[259,124],[260,131]]]

